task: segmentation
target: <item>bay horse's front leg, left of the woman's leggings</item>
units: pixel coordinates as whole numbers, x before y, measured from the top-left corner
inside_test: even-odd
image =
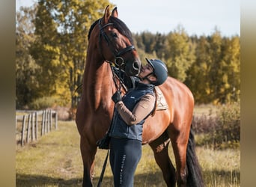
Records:
[[[83,177],[83,187],[91,187],[92,180],[94,177],[94,159],[97,151],[96,144],[90,145],[86,138],[80,140],[80,150],[82,154],[82,162],[84,165],[84,177]]]

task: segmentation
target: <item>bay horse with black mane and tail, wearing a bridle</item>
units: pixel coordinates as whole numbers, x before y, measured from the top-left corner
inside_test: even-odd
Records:
[[[91,25],[88,51],[82,82],[82,95],[76,111],[76,126],[80,135],[83,162],[82,186],[92,186],[97,141],[109,129],[114,111],[112,95],[118,90],[112,64],[127,76],[138,75],[141,60],[133,46],[127,25],[106,7],[103,17]],[[119,86],[120,88],[120,86]],[[143,126],[142,144],[149,144],[156,164],[167,186],[204,186],[201,167],[195,154],[191,124],[194,98],[186,85],[168,76],[159,86],[168,108],[156,110]],[[123,89],[124,90],[124,89]],[[176,170],[168,156],[173,147]]]

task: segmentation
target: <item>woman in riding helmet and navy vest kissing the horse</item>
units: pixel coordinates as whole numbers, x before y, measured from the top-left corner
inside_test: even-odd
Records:
[[[110,131],[110,165],[115,186],[133,186],[133,177],[141,159],[142,126],[155,105],[154,86],[168,76],[165,64],[157,59],[147,60],[138,74],[139,81],[121,97],[112,96],[115,112]]]

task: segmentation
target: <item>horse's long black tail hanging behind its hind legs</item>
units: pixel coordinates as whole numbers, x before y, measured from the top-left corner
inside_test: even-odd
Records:
[[[189,132],[189,143],[186,150],[186,165],[188,168],[187,186],[202,187],[204,186],[201,167],[195,154],[195,138],[192,130]]]

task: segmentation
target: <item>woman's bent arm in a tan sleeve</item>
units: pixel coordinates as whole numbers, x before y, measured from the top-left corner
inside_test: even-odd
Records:
[[[147,117],[147,115],[153,110],[154,105],[155,96],[152,94],[146,94],[141,97],[132,111],[129,111],[122,101],[117,102],[115,107],[118,109],[119,114],[127,125],[134,125],[143,120],[144,117]]]

